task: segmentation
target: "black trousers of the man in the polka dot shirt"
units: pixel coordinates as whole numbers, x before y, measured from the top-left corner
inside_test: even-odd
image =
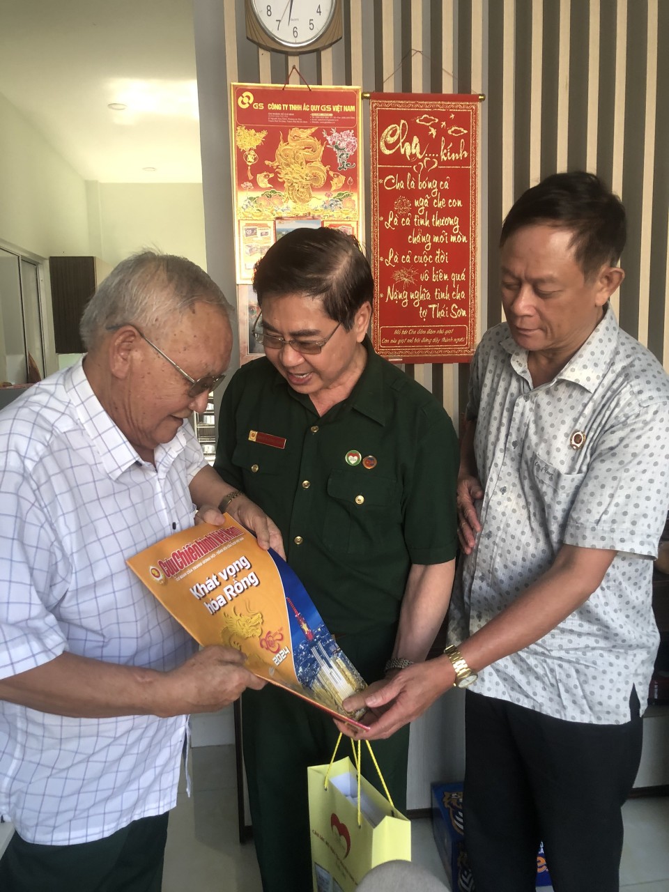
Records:
[[[556,892],[618,892],[621,808],[639,769],[641,718],[565,722],[467,691],[463,812],[476,892],[534,892],[543,840]]]

